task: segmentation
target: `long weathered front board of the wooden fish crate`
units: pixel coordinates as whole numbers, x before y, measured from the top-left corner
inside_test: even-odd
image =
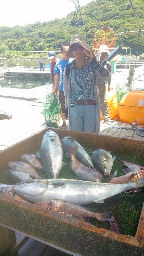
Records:
[[[118,235],[3,195],[0,195],[0,223],[82,256],[142,256],[144,248],[144,241],[139,238]]]

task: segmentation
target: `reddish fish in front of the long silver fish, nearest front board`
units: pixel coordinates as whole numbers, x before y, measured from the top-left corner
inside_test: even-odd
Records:
[[[39,202],[35,203],[35,205],[40,206],[44,209],[48,209],[50,211],[59,212],[63,215],[67,215],[78,220],[102,220],[102,221],[115,221],[111,218],[112,213],[104,212],[104,213],[96,213],[90,212],[90,210],[86,207],[79,206],[76,204],[70,204],[67,202],[56,201],[56,200],[49,200],[46,203]]]

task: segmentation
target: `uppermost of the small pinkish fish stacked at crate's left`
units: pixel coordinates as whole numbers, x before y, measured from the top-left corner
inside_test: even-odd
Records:
[[[41,163],[40,159],[33,154],[23,154],[20,156],[20,160],[31,164],[34,168],[38,170],[45,171],[43,164]]]

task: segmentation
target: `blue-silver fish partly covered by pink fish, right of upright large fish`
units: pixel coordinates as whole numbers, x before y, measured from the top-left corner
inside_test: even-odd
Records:
[[[90,156],[87,154],[84,148],[75,140],[74,137],[64,137],[62,139],[62,146],[65,149],[67,156],[69,157],[69,147],[76,147],[76,159],[85,166],[95,170]]]

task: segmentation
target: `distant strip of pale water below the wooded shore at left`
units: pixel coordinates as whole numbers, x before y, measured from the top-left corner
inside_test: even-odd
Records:
[[[8,67],[15,67],[15,64],[23,67],[39,66],[38,60],[0,60],[0,63],[7,64]],[[44,66],[50,64],[50,60],[44,60]]]

